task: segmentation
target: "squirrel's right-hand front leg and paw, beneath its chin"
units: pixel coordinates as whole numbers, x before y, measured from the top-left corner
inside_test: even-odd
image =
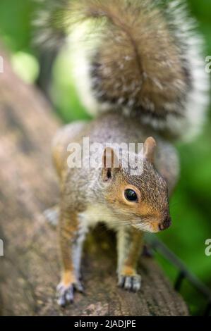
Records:
[[[138,259],[143,250],[143,232],[133,227],[117,232],[118,285],[124,289],[138,291],[141,277],[137,273]]]

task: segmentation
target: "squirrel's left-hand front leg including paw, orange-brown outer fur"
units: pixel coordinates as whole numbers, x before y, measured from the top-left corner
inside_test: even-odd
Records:
[[[85,230],[80,228],[76,213],[61,212],[59,221],[59,244],[61,250],[62,275],[57,287],[58,303],[65,306],[73,302],[74,289],[83,292],[80,283],[80,260],[85,239]]]

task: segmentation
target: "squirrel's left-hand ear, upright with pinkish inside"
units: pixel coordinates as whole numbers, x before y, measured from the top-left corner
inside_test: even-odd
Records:
[[[102,180],[107,182],[121,168],[120,161],[114,149],[106,147],[102,156]]]

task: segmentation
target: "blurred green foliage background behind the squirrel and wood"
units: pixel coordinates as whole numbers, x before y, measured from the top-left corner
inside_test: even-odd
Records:
[[[211,55],[211,1],[189,0],[193,15],[198,18]],[[0,37],[11,51],[13,68],[26,82],[34,83],[39,75],[39,62],[32,43],[31,18],[37,4],[32,0],[0,1]],[[52,96],[58,115],[68,122],[88,118],[80,104],[68,63],[68,54],[61,52],[53,70]],[[210,74],[211,76],[211,74]],[[211,238],[211,126],[210,113],[203,133],[191,144],[178,145],[181,156],[181,180],[171,199],[174,220],[169,230],[159,237],[179,256],[200,280],[211,289],[211,256],[205,256],[205,240]],[[176,270],[164,258],[156,256],[172,282]],[[205,300],[193,287],[184,282],[181,289],[191,313],[199,314]]]

